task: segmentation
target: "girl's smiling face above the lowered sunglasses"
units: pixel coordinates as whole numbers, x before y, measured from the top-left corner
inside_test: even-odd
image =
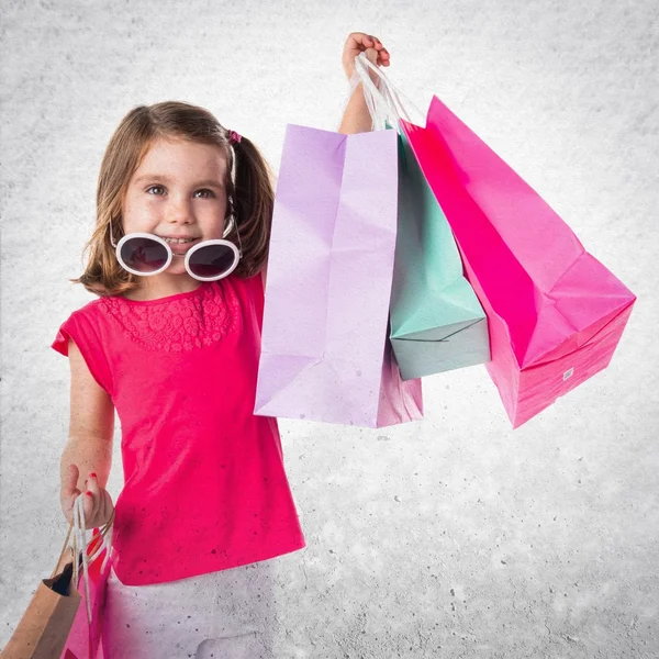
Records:
[[[222,237],[226,169],[219,146],[167,137],[154,142],[133,174],[122,205],[124,233],[165,238],[174,258],[163,275],[187,275],[188,249]]]

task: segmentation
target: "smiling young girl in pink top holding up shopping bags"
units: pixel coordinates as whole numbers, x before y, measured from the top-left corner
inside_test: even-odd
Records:
[[[379,40],[353,33],[348,78],[361,51],[389,65]],[[358,88],[339,131],[370,127]],[[254,584],[264,561],[305,546],[277,421],[253,414],[272,203],[257,147],[201,108],[137,107],[108,145],[76,280],[99,298],[53,344],[71,369],[69,522],[80,492],[88,528],[110,518],[115,410],[121,422],[107,659],[219,657],[231,644],[269,656]]]

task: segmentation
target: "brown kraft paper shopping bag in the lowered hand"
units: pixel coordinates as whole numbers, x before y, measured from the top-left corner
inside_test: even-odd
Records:
[[[48,579],[40,581],[25,613],[0,655],[1,659],[59,657],[81,601],[72,581],[72,558],[62,565],[68,537],[67,535],[55,570]]]

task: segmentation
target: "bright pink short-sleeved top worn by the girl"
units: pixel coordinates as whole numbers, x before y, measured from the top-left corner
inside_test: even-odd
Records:
[[[261,276],[230,275],[159,300],[99,298],[70,336],[110,394],[124,487],[115,502],[122,583],[174,581],[305,546],[277,420],[254,415]]]

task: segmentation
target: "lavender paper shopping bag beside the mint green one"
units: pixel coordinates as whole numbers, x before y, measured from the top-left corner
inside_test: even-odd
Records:
[[[423,416],[388,342],[394,131],[288,125],[268,257],[254,413],[365,427]]]

